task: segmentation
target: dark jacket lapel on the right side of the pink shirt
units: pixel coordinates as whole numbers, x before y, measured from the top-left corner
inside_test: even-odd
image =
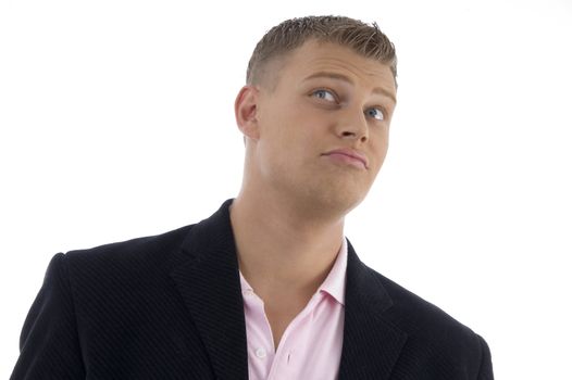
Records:
[[[388,379],[407,340],[384,316],[393,302],[377,276],[348,242],[340,380]]]

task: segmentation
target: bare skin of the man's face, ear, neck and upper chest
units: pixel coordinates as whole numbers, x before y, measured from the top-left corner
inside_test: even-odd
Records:
[[[329,273],[344,217],[383,165],[396,87],[387,65],[316,40],[268,72],[235,102],[246,156],[231,221],[240,270],[264,301],[277,346]],[[332,154],[340,149],[363,160]]]

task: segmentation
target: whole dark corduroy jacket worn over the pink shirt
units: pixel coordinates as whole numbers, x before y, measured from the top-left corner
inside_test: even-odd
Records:
[[[231,203],[163,235],[57,254],[11,379],[247,379]],[[348,244],[339,379],[493,371],[480,335],[368,268]]]

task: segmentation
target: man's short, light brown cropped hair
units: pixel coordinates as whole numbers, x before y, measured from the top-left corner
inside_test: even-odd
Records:
[[[285,58],[288,52],[310,39],[337,43],[362,56],[386,64],[394,75],[394,80],[397,79],[394,43],[380,30],[376,23],[368,25],[359,20],[328,15],[290,18],[270,29],[252,52],[246,74],[247,84],[260,85],[266,77],[270,61]]]

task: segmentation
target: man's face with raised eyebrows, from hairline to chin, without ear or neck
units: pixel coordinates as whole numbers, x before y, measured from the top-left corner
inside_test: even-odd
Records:
[[[273,90],[259,87],[251,147],[259,180],[297,204],[345,215],[363,200],[387,153],[391,71],[310,40],[277,73]]]

